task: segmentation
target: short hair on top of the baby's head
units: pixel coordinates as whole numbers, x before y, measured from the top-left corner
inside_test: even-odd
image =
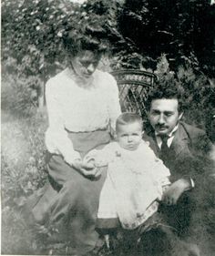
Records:
[[[142,128],[142,118],[138,116],[136,113],[132,112],[125,112],[122,113],[118,118],[116,122],[116,131],[118,132],[118,127],[123,126],[123,125],[128,125],[128,124],[133,124],[133,123],[139,123],[139,126]]]

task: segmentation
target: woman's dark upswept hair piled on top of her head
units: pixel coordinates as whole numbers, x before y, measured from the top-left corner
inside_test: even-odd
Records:
[[[82,20],[78,28],[70,28],[64,36],[64,46],[67,53],[77,56],[82,50],[93,51],[103,54],[107,51],[107,31],[99,16],[92,19]]]

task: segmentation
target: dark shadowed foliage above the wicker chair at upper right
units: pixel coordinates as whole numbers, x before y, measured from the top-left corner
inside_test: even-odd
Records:
[[[136,46],[132,53],[155,60],[165,53],[173,70],[197,56],[200,69],[214,77],[214,8],[202,0],[126,0],[118,30]]]

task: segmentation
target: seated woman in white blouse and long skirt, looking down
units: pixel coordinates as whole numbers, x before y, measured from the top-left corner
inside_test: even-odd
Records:
[[[106,177],[106,169],[82,159],[110,141],[121,112],[115,79],[97,70],[107,49],[105,31],[95,23],[81,29],[65,40],[68,67],[46,83],[49,185],[32,210],[37,223],[55,228],[50,240],[69,241],[78,255],[97,243],[95,220]]]

